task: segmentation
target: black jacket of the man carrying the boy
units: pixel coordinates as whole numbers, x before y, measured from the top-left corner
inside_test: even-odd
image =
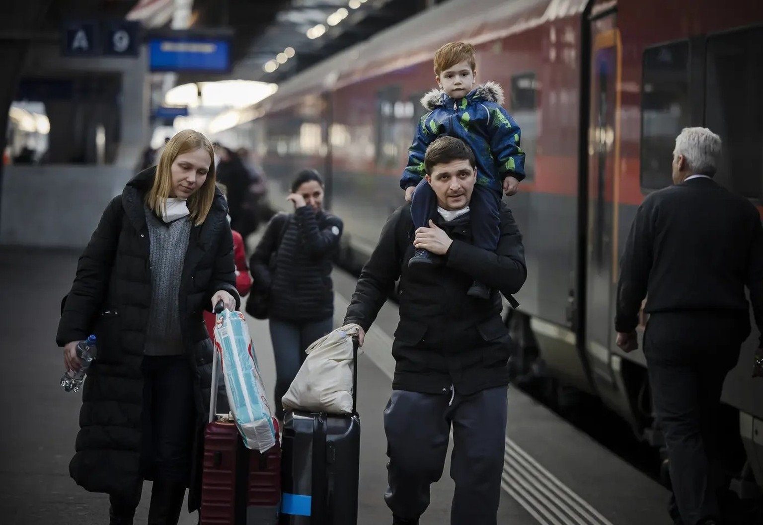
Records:
[[[440,394],[451,385],[461,395],[507,385],[510,337],[501,320],[501,291],[517,293],[526,278],[522,236],[510,209],[501,206],[497,250],[472,246],[468,214],[435,223],[453,240],[441,266],[408,268],[414,253],[410,205],[398,208],[381,231],[364,266],[345,324],[368,330],[400,278],[400,323],[392,355],[392,388]],[[475,279],[493,289],[490,300],[466,295]]]

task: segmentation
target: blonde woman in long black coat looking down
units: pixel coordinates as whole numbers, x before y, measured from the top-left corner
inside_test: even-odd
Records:
[[[111,525],[133,523],[153,480],[148,523],[198,509],[213,349],[202,312],[238,308],[233,238],[214,152],[193,130],[169,140],[104,211],[79,259],[56,342],[68,369],[95,334],[69,474],[110,495]]]

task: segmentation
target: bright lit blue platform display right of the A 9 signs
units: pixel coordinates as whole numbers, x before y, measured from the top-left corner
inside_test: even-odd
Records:
[[[151,71],[230,72],[230,42],[156,38],[149,42]]]

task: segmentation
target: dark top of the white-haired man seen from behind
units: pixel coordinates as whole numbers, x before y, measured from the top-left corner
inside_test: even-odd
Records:
[[[636,330],[647,295],[647,314],[715,312],[749,322],[745,285],[763,329],[758,210],[713,179],[681,182],[652,193],[639,207],[620,266],[615,329]],[[742,339],[749,325],[747,330]]]

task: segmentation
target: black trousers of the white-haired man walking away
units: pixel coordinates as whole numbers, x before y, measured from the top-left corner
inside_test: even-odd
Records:
[[[716,490],[717,416],[723,381],[749,335],[745,315],[663,313],[649,317],[644,354],[658,422],[665,436],[675,523],[720,518]]]

